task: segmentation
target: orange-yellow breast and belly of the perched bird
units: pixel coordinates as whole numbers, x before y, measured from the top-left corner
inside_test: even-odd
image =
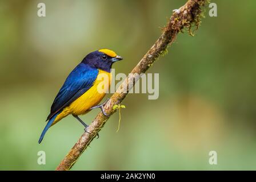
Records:
[[[77,100],[72,102],[69,106],[65,107],[61,113],[55,118],[52,125],[60,121],[62,118],[69,114],[81,115],[90,111],[90,108],[96,106],[101,102],[106,95],[106,91],[109,89],[111,82],[111,74],[99,70],[98,76],[94,81],[93,86],[87,90]]]

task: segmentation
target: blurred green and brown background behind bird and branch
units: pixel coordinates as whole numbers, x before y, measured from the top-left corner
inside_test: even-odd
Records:
[[[129,73],[185,2],[0,1],[0,169],[55,169],[83,133],[69,116],[37,143],[69,72],[110,48],[125,58],[116,73]],[[149,70],[159,73],[158,100],[129,94],[119,132],[116,113],[73,170],[256,169],[256,2],[211,2],[218,17],[207,7],[195,36],[180,34]],[[46,165],[37,163],[41,150]]]

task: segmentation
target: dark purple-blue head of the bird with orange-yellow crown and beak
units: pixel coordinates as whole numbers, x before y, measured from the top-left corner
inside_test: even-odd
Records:
[[[122,57],[118,56],[114,51],[110,49],[100,49],[85,56],[82,63],[88,64],[93,68],[110,72],[112,64],[120,60],[122,60]]]

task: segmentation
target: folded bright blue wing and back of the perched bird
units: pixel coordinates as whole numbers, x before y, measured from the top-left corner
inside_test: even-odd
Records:
[[[59,93],[55,97],[53,105],[51,105],[51,112],[46,121],[89,90],[93,86],[98,72],[98,69],[91,68],[87,64],[78,64],[69,74],[61,90],[59,90]]]

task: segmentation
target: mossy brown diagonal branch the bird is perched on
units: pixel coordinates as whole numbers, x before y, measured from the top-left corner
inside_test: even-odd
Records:
[[[166,52],[167,47],[174,42],[178,33],[182,32],[182,30],[186,29],[189,31],[190,35],[193,35],[191,27],[199,27],[202,17],[201,7],[205,6],[206,3],[207,0],[189,0],[180,9],[175,10],[166,27],[163,29],[162,35],[149,49],[149,51],[147,51],[146,55],[143,56],[131,73],[138,73],[139,75],[141,75],[141,73],[145,73],[147,69],[153,65],[155,60]],[[121,104],[128,94],[126,90],[131,89],[129,88],[129,85],[134,86],[138,79],[139,77],[135,76],[135,74],[129,74],[126,80],[119,86],[117,92],[111,96],[110,100],[104,106],[104,109],[109,116],[106,117],[102,113],[97,115],[88,128],[89,133],[82,134],[77,143],[75,143],[73,148],[71,148],[69,153],[56,168],[57,171],[69,170],[75,164],[79,156],[86,150],[91,141],[105,125],[110,115],[115,112],[115,110],[113,110],[113,106]]]

